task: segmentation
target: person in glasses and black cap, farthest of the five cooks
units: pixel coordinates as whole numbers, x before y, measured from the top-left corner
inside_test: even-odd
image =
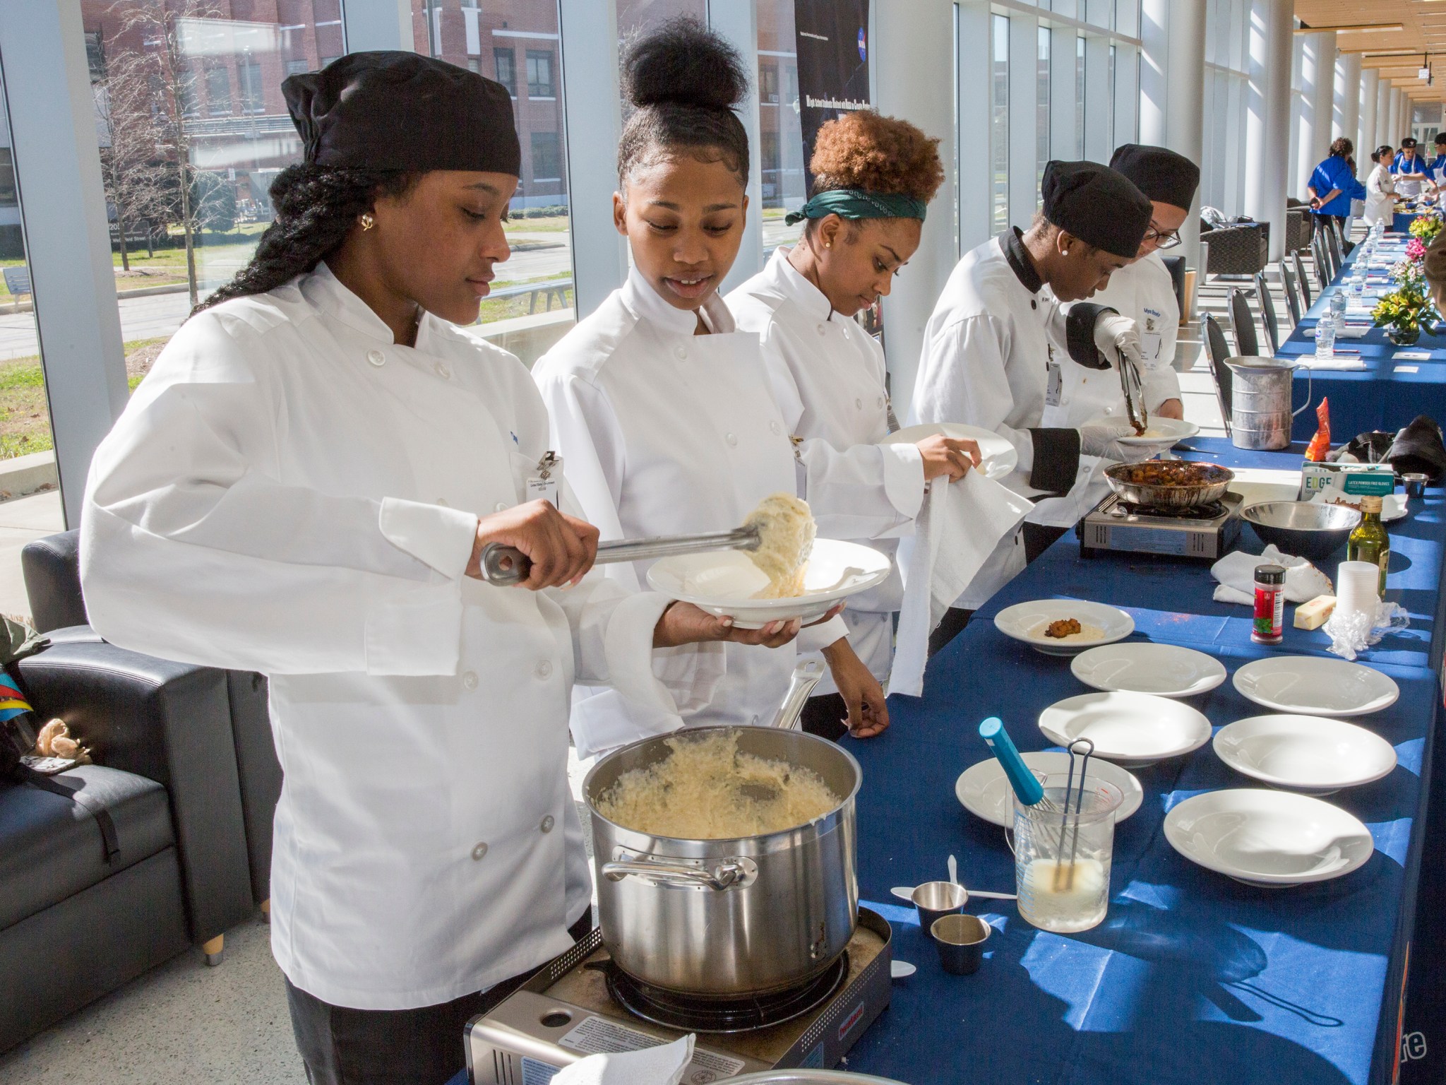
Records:
[[[1163,249],[1180,244],[1180,227],[1190,214],[1200,168],[1167,148],[1126,143],[1115,150],[1109,168],[1129,178],[1152,207],[1138,258],[1109,276],[1109,285],[1095,291],[1090,302],[1106,305],[1135,321],[1139,328],[1139,380],[1151,417],[1183,418],[1180,378],[1174,370],[1180,301],[1174,281],[1160,259]],[[1108,369],[1058,366],[1060,414],[1051,425],[1082,425],[1092,418],[1125,418],[1125,395],[1113,359]]]

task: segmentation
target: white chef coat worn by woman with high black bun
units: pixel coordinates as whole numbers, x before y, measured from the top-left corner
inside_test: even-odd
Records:
[[[810,441],[795,457],[758,336],[735,330],[722,298],[710,298],[703,317],[711,334],[696,336],[697,315],[669,305],[633,271],[532,369],[568,483],[602,537],[726,531],[778,492],[808,501],[824,538],[907,525],[889,498],[907,486],[882,479],[921,475],[918,450],[839,451]],[[607,570],[645,583],[646,564]],[[722,645],[724,674],[706,703],[680,706],[684,723],[772,722],[795,651],[844,635],[847,626],[834,618],[804,629],[795,647]],[[581,755],[659,729],[612,693],[576,699],[573,738]]]

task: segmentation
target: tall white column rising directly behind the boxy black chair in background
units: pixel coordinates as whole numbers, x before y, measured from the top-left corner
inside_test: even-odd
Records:
[[[1290,48],[1293,0],[1251,4],[1249,90],[1245,136],[1245,214],[1270,223],[1270,258],[1284,250],[1290,142]]]

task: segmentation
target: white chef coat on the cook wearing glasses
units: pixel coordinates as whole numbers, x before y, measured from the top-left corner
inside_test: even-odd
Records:
[[[1139,382],[1145,408],[1155,411],[1165,399],[1178,399],[1180,376],[1171,363],[1180,330],[1180,302],[1160,253],[1142,256],[1111,275],[1109,285],[1093,294],[1090,304],[1108,305],[1139,327]],[[1064,311],[1069,310],[1066,305]],[[1045,409],[1045,425],[1079,427],[1100,415],[1128,420],[1119,369],[1115,359],[1108,360],[1109,369],[1089,369],[1056,352],[1053,365],[1060,370],[1060,402],[1058,408]]]

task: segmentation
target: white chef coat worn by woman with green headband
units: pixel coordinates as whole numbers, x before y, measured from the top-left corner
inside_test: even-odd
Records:
[[[790,433],[834,448],[878,444],[889,434],[884,350],[857,321],[833,311],[823,292],[788,262],[788,253],[787,246],[775,249],[763,271],[727,295],[727,307],[740,330],[762,340],[774,398]],[[895,495],[895,508],[910,519],[924,501],[917,450],[914,459],[912,480],[905,479]],[[891,558],[898,550],[894,538],[859,541]],[[894,613],[902,602],[904,582],[895,566],[882,584],[850,596],[843,612],[849,644],[879,681],[889,674]],[[831,677],[826,681],[820,693],[833,689]]]

